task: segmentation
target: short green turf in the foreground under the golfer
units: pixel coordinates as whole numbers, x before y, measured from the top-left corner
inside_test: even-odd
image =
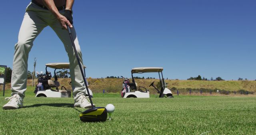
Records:
[[[94,93],[97,107],[115,106],[111,121],[84,123],[73,98],[28,94],[24,108],[0,109],[0,134],[256,134],[256,97],[175,96],[123,99]],[[0,97],[0,106],[6,101]]]

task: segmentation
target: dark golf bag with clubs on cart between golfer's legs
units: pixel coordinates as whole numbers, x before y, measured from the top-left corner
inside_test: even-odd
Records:
[[[41,91],[44,89],[50,89],[50,86],[48,85],[48,80],[52,78],[51,72],[46,72],[46,74],[38,74],[38,84],[36,85],[36,88],[34,90],[34,93],[37,93],[37,91]]]

